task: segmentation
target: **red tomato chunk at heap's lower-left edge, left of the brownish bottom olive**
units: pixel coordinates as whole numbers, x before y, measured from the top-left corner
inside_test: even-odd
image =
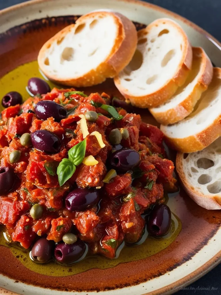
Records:
[[[22,215],[16,224],[15,232],[12,233],[11,238],[14,242],[21,243],[21,246],[28,249],[34,239],[36,238],[36,232],[32,230],[33,219],[28,215]]]

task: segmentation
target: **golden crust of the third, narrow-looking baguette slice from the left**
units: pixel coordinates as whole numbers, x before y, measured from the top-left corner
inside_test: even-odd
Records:
[[[207,90],[212,80],[213,67],[212,63],[201,47],[193,47],[193,56],[201,56],[200,76],[192,92],[177,106],[168,109],[165,112],[156,112],[155,109],[149,109],[157,122],[163,125],[174,124],[187,117],[200,99],[201,94]],[[176,94],[175,94],[176,95]]]

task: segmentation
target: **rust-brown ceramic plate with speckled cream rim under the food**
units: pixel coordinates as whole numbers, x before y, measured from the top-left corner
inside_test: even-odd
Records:
[[[36,60],[43,43],[74,22],[77,15],[102,8],[125,14],[139,23],[137,28],[159,17],[175,19],[187,32],[192,45],[202,46],[212,62],[221,66],[221,44],[217,40],[195,24],[158,6],[136,0],[33,0],[0,12],[0,78],[22,64]],[[12,78],[18,79],[19,72],[13,73]],[[2,89],[1,80],[0,88],[7,92]],[[120,96],[111,80],[85,90],[86,93],[102,91]],[[143,110],[141,115],[144,121],[156,124],[148,111]],[[30,270],[25,266],[24,258],[21,263],[21,255],[0,246],[0,294],[174,293],[221,261],[221,212],[197,206],[182,189],[170,196],[168,205],[181,221],[182,229],[172,243],[166,248],[162,246],[154,255],[148,245],[146,249],[140,248],[142,251],[139,250],[141,246],[136,246],[129,248],[127,254],[122,254],[124,256],[120,254],[121,263],[115,260],[111,264],[104,260],[101,267],[97,261],[88,260],[85,271],[76,264],[64,271],[65,276],[62,273],[58,276],[53,268],[50,275]],[[129,259],[133,251],[137,251],[139,260]],[[90,263],[93,269],[90,269]],[[73,274],[78,268],[79,273]]]

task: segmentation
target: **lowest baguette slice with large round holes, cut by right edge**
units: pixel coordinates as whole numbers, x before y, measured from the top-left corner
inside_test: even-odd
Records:
[[[201,207],[221,209],[221,137],[202,151],[177,153],[176,168],[187,194]]]

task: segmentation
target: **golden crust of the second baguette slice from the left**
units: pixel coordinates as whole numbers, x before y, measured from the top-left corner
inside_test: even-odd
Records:
[[[164,103],[167,99],[169,99],[176,91],[179,86],[182,86],[187,79],[189,71],[192,66],[192,47],[189,43],[187,35],[182,30],[182,28],[173,20],[162,18],[156,19],[154,22],[149,24],[145,29],[138,31],[138,39],[148,37],[148,32],[152,29],[152,27],[158,25],[160,22],[168,22],[169,25],[176,27],[180,34],[183,36],[184,48],[183,48],[183,56],[182,60],[179,63],[179,68],[177,73],[171,79],[164,84],[158,91],[147,94],[145,96],[133,96],[128,89],[124,88],[121,85],[121,79],[119,76],[114,78],[114,83],[121,94],[128,99],[132,105],[137,106],[139,108],[151,108],[159,106]]]

